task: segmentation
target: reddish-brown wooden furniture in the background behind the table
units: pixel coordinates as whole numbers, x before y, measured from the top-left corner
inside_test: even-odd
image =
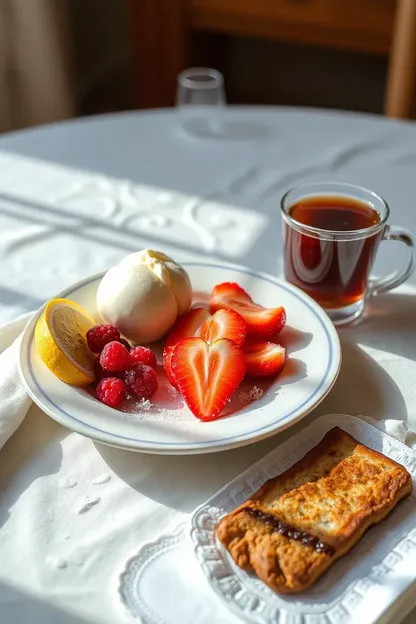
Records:
[[[416,0],[131,0],[131,8],[138,108],[173,105],[177,75],[199,64],[201,50],[205,64],[207,50],[219,58],[220,34],[389,55],[384,112],[412,116]]]

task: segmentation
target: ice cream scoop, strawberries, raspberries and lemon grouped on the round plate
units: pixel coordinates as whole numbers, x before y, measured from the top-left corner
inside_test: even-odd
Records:
[[[215,420],[229,413],[243,380],[273,380],[283,369],[286,312],[279,302],[264,308],[231,282],[193,299],[188,274],[171,258],[131,254],[98,286],[99,322],[69,299],[48,302],[35,329],[38,353],[59,379],[110,407],[156,400],[167,378],[196,418]]]

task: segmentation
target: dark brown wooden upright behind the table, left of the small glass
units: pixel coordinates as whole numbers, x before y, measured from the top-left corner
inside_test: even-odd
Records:
[[[177,76],[187,66],[185,2],[130,0],[130,9],[134,106],[172,106]]]

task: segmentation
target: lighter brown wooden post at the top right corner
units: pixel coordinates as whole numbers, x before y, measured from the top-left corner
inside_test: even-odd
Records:
[[[416,95],[416,0],[397,0],[384,114],[411,118]]]

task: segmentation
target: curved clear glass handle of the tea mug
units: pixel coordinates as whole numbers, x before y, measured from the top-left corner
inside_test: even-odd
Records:
[[[407,258],[401,269],[397,269],[385,277],[370,279],[367,291],[367,296],[370,297],[403,284],[411,276],[416,265],[415,239],[408,230],[395,225],[386,225],[383,240],[395,240],[404,243],[407,246]]]

